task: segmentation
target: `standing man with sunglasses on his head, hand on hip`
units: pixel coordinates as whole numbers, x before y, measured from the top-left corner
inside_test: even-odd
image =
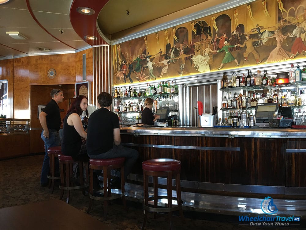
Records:
[[[45,143],[45,158],[43,159],[43,167],[41,169],[40,186],[46,187],[48,185],[49,173],[49,156],[48,148],[59,146],[61,144],[59,137],[59,129],[61,127],[61,114],[58,103],[63,102],[63,91],[58,89],[51,90],[51,101],[39,113],[39,122],[43,127],[41,132],[41,139]],[[56,158],[57,159],[57,158]],[[58,174],[58,159],[55,161],[55,173]]]

